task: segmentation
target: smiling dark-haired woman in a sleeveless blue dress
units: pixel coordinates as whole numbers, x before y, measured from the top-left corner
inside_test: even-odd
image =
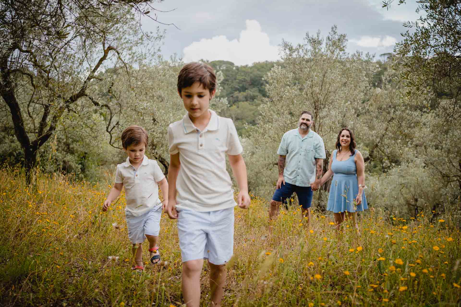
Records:
[[[323,185],[333,176],[326,209],[333,211],[337,230],[341,228],[347,212],[358,231],[357,211],[368,209],[364,191],[365,162],[355,146],[352,131],[347,127],[342,128],[338,133],[337,150],[331,155],[328,171],[320,179],[320,185]]]

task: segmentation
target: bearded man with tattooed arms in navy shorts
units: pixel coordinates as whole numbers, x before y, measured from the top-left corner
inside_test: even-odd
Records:
[[[269,219],[280,211],[293,192],[298,196],[302,216],[309,222],[313,191],[319,188],[322,178],[325,145],[319,134],[313,132],[312,113],[302,111],[298,127],[284,134],[278,147],[278,180],[272,196]]]

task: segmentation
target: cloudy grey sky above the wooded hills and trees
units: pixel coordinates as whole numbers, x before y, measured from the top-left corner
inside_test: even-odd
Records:
[[[386,10],[381,0],[164,0],[154,7],[172,11],[157,12],[158,20],[179,29],[148,18],[142,19],[142,27],[166,29],[162,54],[177,54],[185,62],[203,58],[245,65],[277,60],[282,40],[301,43],[307,32],[318,30],[325,36],[334,24],[347,34],[348,52],[370,52],[379,59],[402,40],[402,23],[419,18],[415,1],[407,2]]]

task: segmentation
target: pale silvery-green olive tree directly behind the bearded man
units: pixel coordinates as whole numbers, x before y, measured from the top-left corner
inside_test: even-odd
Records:
[[[268,98],[246,140],[249,185],[255,192],[268,195],[273,190],[278,145],[286,131],[298,126],[302,110],[313,113],[312,129],[324,139],[328,153],[324,168],[338,130],[357,125],[377,65],[360,52],[345,52],[346,44],[346,35],[339,34],[336,26],[325,38],[318,32],[307,34],[296,46],[283,42],[282,64],[266,75]]]

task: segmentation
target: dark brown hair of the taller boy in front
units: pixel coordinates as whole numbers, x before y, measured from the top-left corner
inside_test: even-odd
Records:
[[[201,86],[210,94],[216,89],[216,75],[213,68],[205,63],[192,62],[185,64],[177,76],[177,92],[182,97],[184,87],[190,87],[195,82],[200,82]]]

